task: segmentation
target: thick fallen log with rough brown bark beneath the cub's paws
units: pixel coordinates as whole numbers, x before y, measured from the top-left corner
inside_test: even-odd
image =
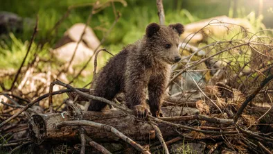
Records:
[[[175,110],[185,110],[185,107],[175,107]],[[180,112],[174,114],[173,109],[162,108],[164,114],[172,112],[172,116],[178,116]],[[195,114],[194,111],[192,114]],[[89,120],[97,123],[103,123],[116,128],[123,132],[124,135],[130,137],[134,141],[148,141],[155,138],[155,130],[145,121],[139,121],[134,117],[127,115],[121,110],[105,110],[103,112],[82,112],[77,117],[71,117],[67,112],[51,113],[51,114],[35,114],[28,122],[29,137],[36,144],[41,144],[45,139],[53,140],[71,140],[78,139],[78,126],[67,126],[57,128],[56,124],[62,121]],[[87,132],[87,136],[96,141],[118,140],[112,132],[107,132],[98,128],[83,126]],[[159,128],[165,137],[177,135],[169,126],[159,124]]]

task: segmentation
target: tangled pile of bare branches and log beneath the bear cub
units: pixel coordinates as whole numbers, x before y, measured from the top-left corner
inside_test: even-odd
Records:
[[[24,126],[24,130],[28,129],[28,137],[26,137],[24,140],[17,139],[17,142],[13,141],[12,143],[3,144],[3,146],[43,144],[45,141],[77,141],[78,139],[82,141],[82,151],[85,151],[85,142],[88,141],[87,143],[96,148],[98,151],[109,153],[107,149],[97,142],[114,142],[118,139],[122,139],[124,142],[127,142],[127,144],[130,144],[133,148],[135,148],[136,151],[140,151],[142,153],[150,153],[149,149],[155,150],[161,146],[164,147],[165,153],[168,153],[168,145],[184,139],[186,139],[187,142],[206,139],[218,139],[220,142],[223,142],[222,137],[229,140],[240,135],[240,138],[236,138],[236,141],[233,140],[233,142],[237,142],[234,144],[245,146],[247,150],[255,153],[259,153],[259,151],[262,150],[270,151],[267,147],[270,147],[270,145],[273,143],[272,133],[264,134],[261,132],[248,130],[244,125],[242,125],[243,120],[241,116],[243,110],[245,110],[249,102],[252,101],[256,94],[258,94],[258,92],[261,91],[261,89],[263,89],[263,87],[272,79],[273,75],[265,78],[260,87],[254,90],[251,95],[247,96],[232,119],[224,118],[224,114],[222,114],[222,117],[215,117],[200,114],[198,112],[192,113],[191,115],[180,116],[179,114],[181,114],[181,111],[185,107],[174,106],[172,108],[162,108],[164,111],[164,117],[157,119],[155,117],[148,116],[148,119],[145,121],[136,119],[134,114],[132,114],[132,110],[130,109],[123,108],[123,106],[117,105],[116,103],[108,101],[107,99],[87,94],[87,92],[89,92],[88,89],[76,89],[70,85],[62,83],[60,80],[55,80],[52,85],[61,85],[63,87],[67,87],[67,89],[41,96],[28,103],[26,106],[18,105],[14,99],[10,98],[10,96],[7,94],[4,95],[14,103],[14,105],[4,103],[5,105],[9,105],[11,108],[21,108],[21,110],[19,110],[19,112],[16,114],[13,114],[8,119],[5,119],[0,124],[1,132],[6,132],[7,135],[8,132],[16,133],[18,128],[11,131],[10,126],[7,126],[7,123],[14,119],[20,118],[19,115],[22,112],[33,112],[34,114],[28,120],[28,127],[26,127],[26,125]],[[53,86],[51,86],[51,88],[53,88]],[[55,112],[53,110],[52,112],[42,114],[41,112],[37,112],[37,110],[30,108],[35,103],[45,99],[48,96],[50,101],[49,104],[53,105],[53,103],[51,103],[51,97],[64,92],[76,92],[76,94],[84,97],[85,99],[96,99],[103,101],[114,106],[116,109],[105,110],[103,112],[83,112],[76,104],[67,103],[67,112]],[[183,124],[191,121],[200,121],[200,123],[202,123],[202,121],[206,121],[206,123],[210,124],[209,126],[200,126],[198,123],[191,124],[191,126]],[[14,126],[18,125],[15,123]],[[161,146],[158,144],[150,147],[146,145],[150,140],[155,140],[156,138],[159,139]],[[164,139],[168,139],[168,141],[165,142]],[[248,141],[253,139],[256,142],[251,142],[251,144],[249,144]],[[141,146],[137,142],[146,144]],[[220,144],[218,143],[215,144],[215,146],[219,145]],[[217,147],[211,148],[211,152],[215,148]],[[239,150],[239,148],[236,146],[234,148]],[[240,151],[243,150],[240,149]]]

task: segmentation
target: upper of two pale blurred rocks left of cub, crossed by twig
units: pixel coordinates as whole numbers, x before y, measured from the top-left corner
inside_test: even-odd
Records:
[[[71,28],[69,28],[64,33],[64,37],[62,37],[62,39],[55,45],[55,48],[63,46],[64,44],[67,44],[69,42],[78,42],[84,28],[85,24],[83,23],[78,23],[71,26]],[[89,26],[87,26],[87,28],[85,29],[85,34],[82,36],[82,43],[93,51],[100,44],[98,37],[96,37],[94,31]]]

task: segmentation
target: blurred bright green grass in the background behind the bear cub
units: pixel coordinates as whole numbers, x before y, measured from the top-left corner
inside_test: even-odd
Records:
[[[24,24],[23,33],[10,33],[10,35],[4,37],[3,40],[0,40],[0,69],[13,68],[17,70],[19,68],[21,61],[26,54],[28,41],[33,33],[36,16],[39,20],[38,33],[35,37],[35,42],[30,50],[25,65],[32,60],[34,52],[38,52],[39,56],[42,58],[49,58],[49,50],[54,47],[54,44],[60,40],[69,27],[78,22],[86,22],[91,7],[86,6],[75,8],[71,10],[67,19],[64,19],[60,24],[58,31],[53,31],[53,33],[49,34],[51,28],[53,28],[55,23],[62,18],[69,6],[93,3],[94,1],[95,0],[10,0],[1,3],[0,10],[15,12],[21,17],[28,17],[30,18],[28,19],[30,22]],[[100,2],[103,3],[105,1],[107,0]],[[116,10],[121,12],[121,18],[103,43],[103,47],[116,54],[118,51],[121,51],[123,46],[133,43],[143,37],[147,24],[150,22],[158,22],[158,17],[157,6],[154,0],[127,0],[126,7],[123,6],[122,3],[118,2],[115,2],[114,4]],[[221,2],[220,5],[213,1],[164,1],[166,24],[177,22],[188,24],[208,17],[228,15],[229,7],[227,6],[227,1]],[[211,11],[212,9],[213,11]],[[261,18],[256,18],[255,15],[249,15],[247,18],[257,27],[257,29],[261,28]],[[94,32],[98,38],[101,39],[105,35],[105,29],[107,30],[112,26],[113,22],[114,13],[110,6],[94,15],[89,26],[94,28]],[[43,49],[37,48],[37,44],[49,35],[52,36],[52,40],[48,42]],[[99,67],[104,65],[108,58],[110,58],[110,56],[104,54],[103,58],[99,61]],[[78,65],[74,67],[74,69],[79,70],[81,66],[82,65]],[[90,72],[93,72],[93,64],[89,64],[86,70],[91,70]],[[72,78],[72,76],[69,75],[69,78]],[[76,80],[75,84],[80,86],[85,85],[89,82],[90,78],[92,78],[91,75],[80,76],[80,78]],[[8,80],[5,82],[10,84]]]

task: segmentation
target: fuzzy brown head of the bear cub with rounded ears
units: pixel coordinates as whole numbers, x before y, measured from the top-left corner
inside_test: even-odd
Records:
[[[155,58],[174,64],[181,60],[178,44],[179,36],[183,32],[184,26],[179,23],[169,26],[152,23],[146,28],[146,44],[150,46],[150,51]]]

